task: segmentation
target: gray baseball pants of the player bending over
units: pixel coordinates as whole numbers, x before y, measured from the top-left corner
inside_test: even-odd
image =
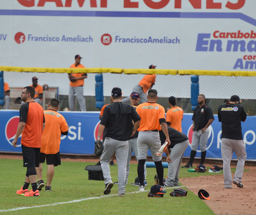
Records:
[[[186,148],[189,146],[189,140],[174,145],[171,149],[171,163],[168,164],[168,178],[165,180],[168,186],[180,186],[179,172],[180,164]]]

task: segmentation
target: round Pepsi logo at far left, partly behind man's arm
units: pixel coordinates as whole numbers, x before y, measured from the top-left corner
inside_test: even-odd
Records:
[[[19,122],[20,122],[20,117],[14,116],[11,119],[9,119],[8,122],[6,123],[5,137],[8,143],[10,143],[11,145],[12,145],[12,141],[14,140]],[[17,147],[21,146],[20,140],[21,140],[21,135],[18,138]]]

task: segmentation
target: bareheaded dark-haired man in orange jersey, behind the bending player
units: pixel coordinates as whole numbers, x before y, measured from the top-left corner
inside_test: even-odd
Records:
[[[167,110],[169,110],[166,113],[166,124],[167,126],[182,132],[181,120],[183,119],[183,110],[178,107],[176,103],[174,96],[169,97],[169,105],[171,106],[171,109],[167,108]]]

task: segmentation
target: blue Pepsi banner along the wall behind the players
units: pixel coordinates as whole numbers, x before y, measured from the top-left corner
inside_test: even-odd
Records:
[[[68,125],[69,132],[67,136],[61,136],[60,153],[67,154],[94,154],[94,141],[96,140],[99,128],[99,112],[65,112],[59,111]],[[0,111],[0,152],[21,152],[21,137],[18,139],[18,147],[12,146],[12,140],[17,131],[19,123],[19,111]],[[207,144],[207,158],[221,158],[221,123],[218,122],[218,116],[214,115],[215,120],[209,127],[209,137]],[[256,117],[247,116],[245,122],[242,122],[242,134],[247,152],[247,159],[256,160],[256,128],[254,126]],[[182,120],[182,131],[189,137],[189,143],[192,141],[192,114],[184,114]],[[172,141],[172,140],[171,140]],[[187,147],[184,156],[189,157],[191,152],[190,145]],[[151,155],[148,152],[148,155]],[[197,150],[197,157],[201,156],[200,148]],[[233,158],[236,158],[235,153]]]

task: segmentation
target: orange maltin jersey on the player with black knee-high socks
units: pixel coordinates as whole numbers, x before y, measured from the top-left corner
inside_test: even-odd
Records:
[[[155,102],[145,102],[136,108],[141,121],[138,131],[161,130],[159,120],[165,120],[165,108]]]

